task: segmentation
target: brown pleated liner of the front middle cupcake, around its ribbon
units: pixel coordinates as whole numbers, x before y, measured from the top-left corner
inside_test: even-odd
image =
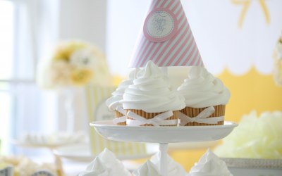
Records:
[[[126,113],[128,111],[131,111],[137,115],[140,115],[142,116],[143,118],[146,118],[146,119],[151,119],[151,118],[154,118],[156,115],[159,115],[161,113],[164,113],[164,112],[161,112],[161,113],[147,113],[145,111],[142,111],[140,109],[128,109],[128,110],[125,110]],[[178,120],[178,111],[172,111],[173,115],[170,117],[170,118],[167,118],[166,120]],[[127,116],[128,119],[131,119],[133,120],[133,118],[130,118],[129,116]],[[176,124],[177,125],[177,124]],[[160,126],[176,126],[176,125],[160,125]],[[154,126],[152,124],[144,124],[144,125],[141,125],[141,126]]]

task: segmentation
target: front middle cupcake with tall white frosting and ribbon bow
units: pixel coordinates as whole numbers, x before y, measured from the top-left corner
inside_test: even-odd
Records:
[[[185,107],[183,96],[171,89],[168,77],[152,61],[125,89],[121,103],[126,125],[133,126],[176,126],[178,111]]]

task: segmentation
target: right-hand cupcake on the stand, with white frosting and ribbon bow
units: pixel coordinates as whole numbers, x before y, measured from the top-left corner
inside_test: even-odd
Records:
[[[180,111],[180,125],[223,125],[229,90],[204,67],[191,67],[188,78],[178,87],[186,107]]]

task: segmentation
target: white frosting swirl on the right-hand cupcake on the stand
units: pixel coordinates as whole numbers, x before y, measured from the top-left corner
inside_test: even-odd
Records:
[[[219,78],[197,66],[190,68],[188,78],[177,90],[185,97],[186,106],[192,108],[226,105],[230,98],[229,90]]]

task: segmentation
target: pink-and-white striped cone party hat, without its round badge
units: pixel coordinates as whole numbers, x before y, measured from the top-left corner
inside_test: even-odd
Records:
[[[148,61],[153,61],[160,67],[204,66],[180,0],[152,0],[149,13],[156,8],[157,11],[169,9],[176,16],[174,27],[177,27],[177,32],[173,37],[161,42],[149,40],[144,32],[141,32],[129,67],[144,67]]]

